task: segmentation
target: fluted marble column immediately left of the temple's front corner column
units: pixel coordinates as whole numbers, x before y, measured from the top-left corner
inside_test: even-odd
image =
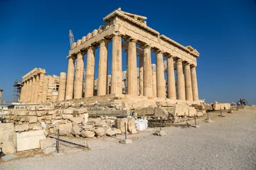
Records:
[[[107,94],[107,45],[108,40],[100,41],[100,59],[98,71],[97,96]]]

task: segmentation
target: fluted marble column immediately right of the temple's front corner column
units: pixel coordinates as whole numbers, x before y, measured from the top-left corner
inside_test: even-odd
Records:
[[[137,40],[129,40],[127,56],[127,94],[134,96],[138,96],[136,42]]]

